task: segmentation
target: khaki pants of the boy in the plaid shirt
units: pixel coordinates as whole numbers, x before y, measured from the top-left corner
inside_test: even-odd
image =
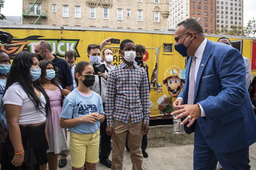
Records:
[[[112,136],[112,170],[123,169],[123,153],[127,136],[128,146],[131,153],[132,170],[143,169],[143,155],[141,152],[141,141],[143,136],[142,121],[131,124],[130,117],[128,124],[125,124],[114,119],[115,134]]]

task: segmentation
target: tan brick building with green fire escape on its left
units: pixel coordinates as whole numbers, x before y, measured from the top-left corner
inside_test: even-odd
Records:
[[[23,0],[23,24],[167,28],[169,0]]]

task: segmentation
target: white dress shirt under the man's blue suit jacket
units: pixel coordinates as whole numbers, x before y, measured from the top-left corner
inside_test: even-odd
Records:
[[[197,72],[198,72],[198,69],[199,69],[199,65],[200,65],[200,62],[201,62],[201,59],[202,59],[202,56],[204,54],[204,50],[205,50],[205,46],[206,46],[206,43],[207,43],[207,38],[205,38],[205,40],[201,43],[201,45],[197,48],[194,56],[196,57],[196,70],[195,70],[195,83],[196,83],[196,77],[197,77]],[[191,72],[191,68],[190,68],[190,72]],[[188,77],[189,78],[189,77]],[[182,99],[181,97],[178,97],[177,99]],[[176,99],[176,100],[177,100]],[[197,103],[199,106],[200,106],[200,109],[201,109],[201,116],[202,117],[205,117],[205,112],[204,112],[204,109],[202,108],[202,106]]]

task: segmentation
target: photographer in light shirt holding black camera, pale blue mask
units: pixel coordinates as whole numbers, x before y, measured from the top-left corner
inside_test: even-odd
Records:
[[[104,41],[103,41],[104,42]],[[103,45],[104,46],[104,45]],[[103,48],[103,47],[102,47]],[[101,96],[103,103],[103,110],[105,110],[105,95],[107,86],[107,71],[104,64],[101,61],[101,46],[96,44],[90,44],[87,47],[88,58],[94,68],[95,82],[90,87],[90,90],[98,93]],[[104,126],[105,124],[105,126]],[[106,134],[106,120],[100,125],[100,163],[106,167],[111,168],[111,161],[108,159],[111,152],[111,136]]]

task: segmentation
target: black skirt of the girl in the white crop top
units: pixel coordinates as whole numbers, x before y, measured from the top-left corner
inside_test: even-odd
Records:
[[[45,123],[39,126],[19,127],[25,151],[23,164],[15,167],[11,163],[14,157],[14,148],[8,133],[1,160],[1,169],[40,170],[40,165],[48,162],[46,151],[49,149],[49,146],[45,137]]]

